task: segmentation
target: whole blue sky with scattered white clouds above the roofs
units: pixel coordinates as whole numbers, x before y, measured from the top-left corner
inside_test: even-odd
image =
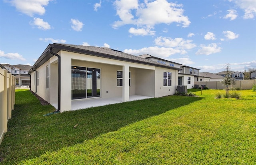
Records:
[[[256,68],[255,19],[256,0],[0,0],[0,63],[66,43],[243,72]]]

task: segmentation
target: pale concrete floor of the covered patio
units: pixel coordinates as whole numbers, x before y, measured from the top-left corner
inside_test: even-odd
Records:
[[[129,101],[149,99],[153,97],[142,96],[142,95],[131,95]],[[81,99],[81,100],[72,100],[71,110],[85,109],[89,107],[99,107],[103,105],[122,103],[122,97],[116,98],[90,98],[90,99]]]

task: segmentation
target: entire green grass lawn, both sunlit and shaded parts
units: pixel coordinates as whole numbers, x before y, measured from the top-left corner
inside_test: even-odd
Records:
[[[0,145],[1,164],[256,164],[256,92],[215,99],[225,91],[191,91],[199,97],[43,117],[54,108],[20,89]]]

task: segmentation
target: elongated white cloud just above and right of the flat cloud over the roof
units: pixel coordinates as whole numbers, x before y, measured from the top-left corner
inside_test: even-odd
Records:
[[[178,48],[178,49],[192,49],[196,47],[196,44],[192,43],[192,40],[184,40],[183,38],[168,38],[168,37],[158,37],[155,39],[155,44],[157,46]]]

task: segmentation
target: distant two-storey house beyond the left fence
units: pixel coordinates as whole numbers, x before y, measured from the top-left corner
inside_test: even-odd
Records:
[[[30,85],[30,75],[28,71],[31,69],[29,65],[10,65],[10,64],[2,64],[8,72],[12,73],[12,75],[16,78],[16,86],[22,85]]]

